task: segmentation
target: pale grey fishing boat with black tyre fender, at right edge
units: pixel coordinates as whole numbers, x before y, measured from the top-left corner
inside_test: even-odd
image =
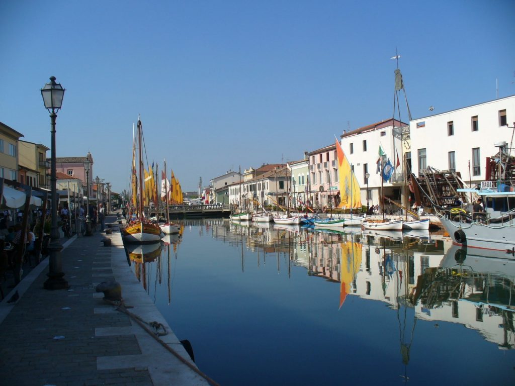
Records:
[[[483,199],[486,213],[467,214],[464,209],[450,209],[441,222],[454,245],[470,249],[508,252],[515,255],[515,210],[510,209],[515,191],[457,189]],[[453,211],[455,213],[453,213]]]

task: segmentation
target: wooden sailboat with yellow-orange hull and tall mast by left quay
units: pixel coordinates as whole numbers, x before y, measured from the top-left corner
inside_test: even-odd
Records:
[[[138,161],[137,169],[136,160]],[[129,221],[120,231],[124,241],[128,243],[144,244],[161,240],[161,229],[157,224],[151,223],[143,212],[143,169],[143,127],[138,118],[138,135],[135,137],[132,147],[132,200],[129,202]]]

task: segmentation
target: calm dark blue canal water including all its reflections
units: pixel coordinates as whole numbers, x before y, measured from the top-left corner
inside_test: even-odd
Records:
[[[184,220],[129,248],[222,385],[515,384],[515,261],[428,232]]]

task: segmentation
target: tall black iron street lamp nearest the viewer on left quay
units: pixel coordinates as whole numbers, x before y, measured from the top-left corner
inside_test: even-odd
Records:
[[[68,288],[68,282],[64,279],[62,271],[61,251],[63,249],[59,242],[59,229],[57,226],[57,177],[56,177],[56,118],[57,111],[61,108],[64,96],[64,89],[61,84],[56,83],[56,77],[50,77],[50,82],[46,83],[41,89],[41,96],[45,109],[50,113],[50,133],[52,133],[52,163],[50,187],[52,195],[52,227],[50,229],[50,244],[48,245],[49,268],[48,279],[43,287],[48,290]]]

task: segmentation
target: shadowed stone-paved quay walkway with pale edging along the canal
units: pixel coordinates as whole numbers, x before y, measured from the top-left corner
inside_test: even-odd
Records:
[[[207,385],[174,356],[193,363],[127,264],[116,218],[112,235],[60,239],[64,278],[70,288],[43,289],[48,258],[0,303],[0,384],[12,385]],[[102,239],[112,245],[104,246]],[[98,283],[122,285],[128,310],[161,323],[163,345],[97,293]],[[18,291],[17,302],[8,304]]]

